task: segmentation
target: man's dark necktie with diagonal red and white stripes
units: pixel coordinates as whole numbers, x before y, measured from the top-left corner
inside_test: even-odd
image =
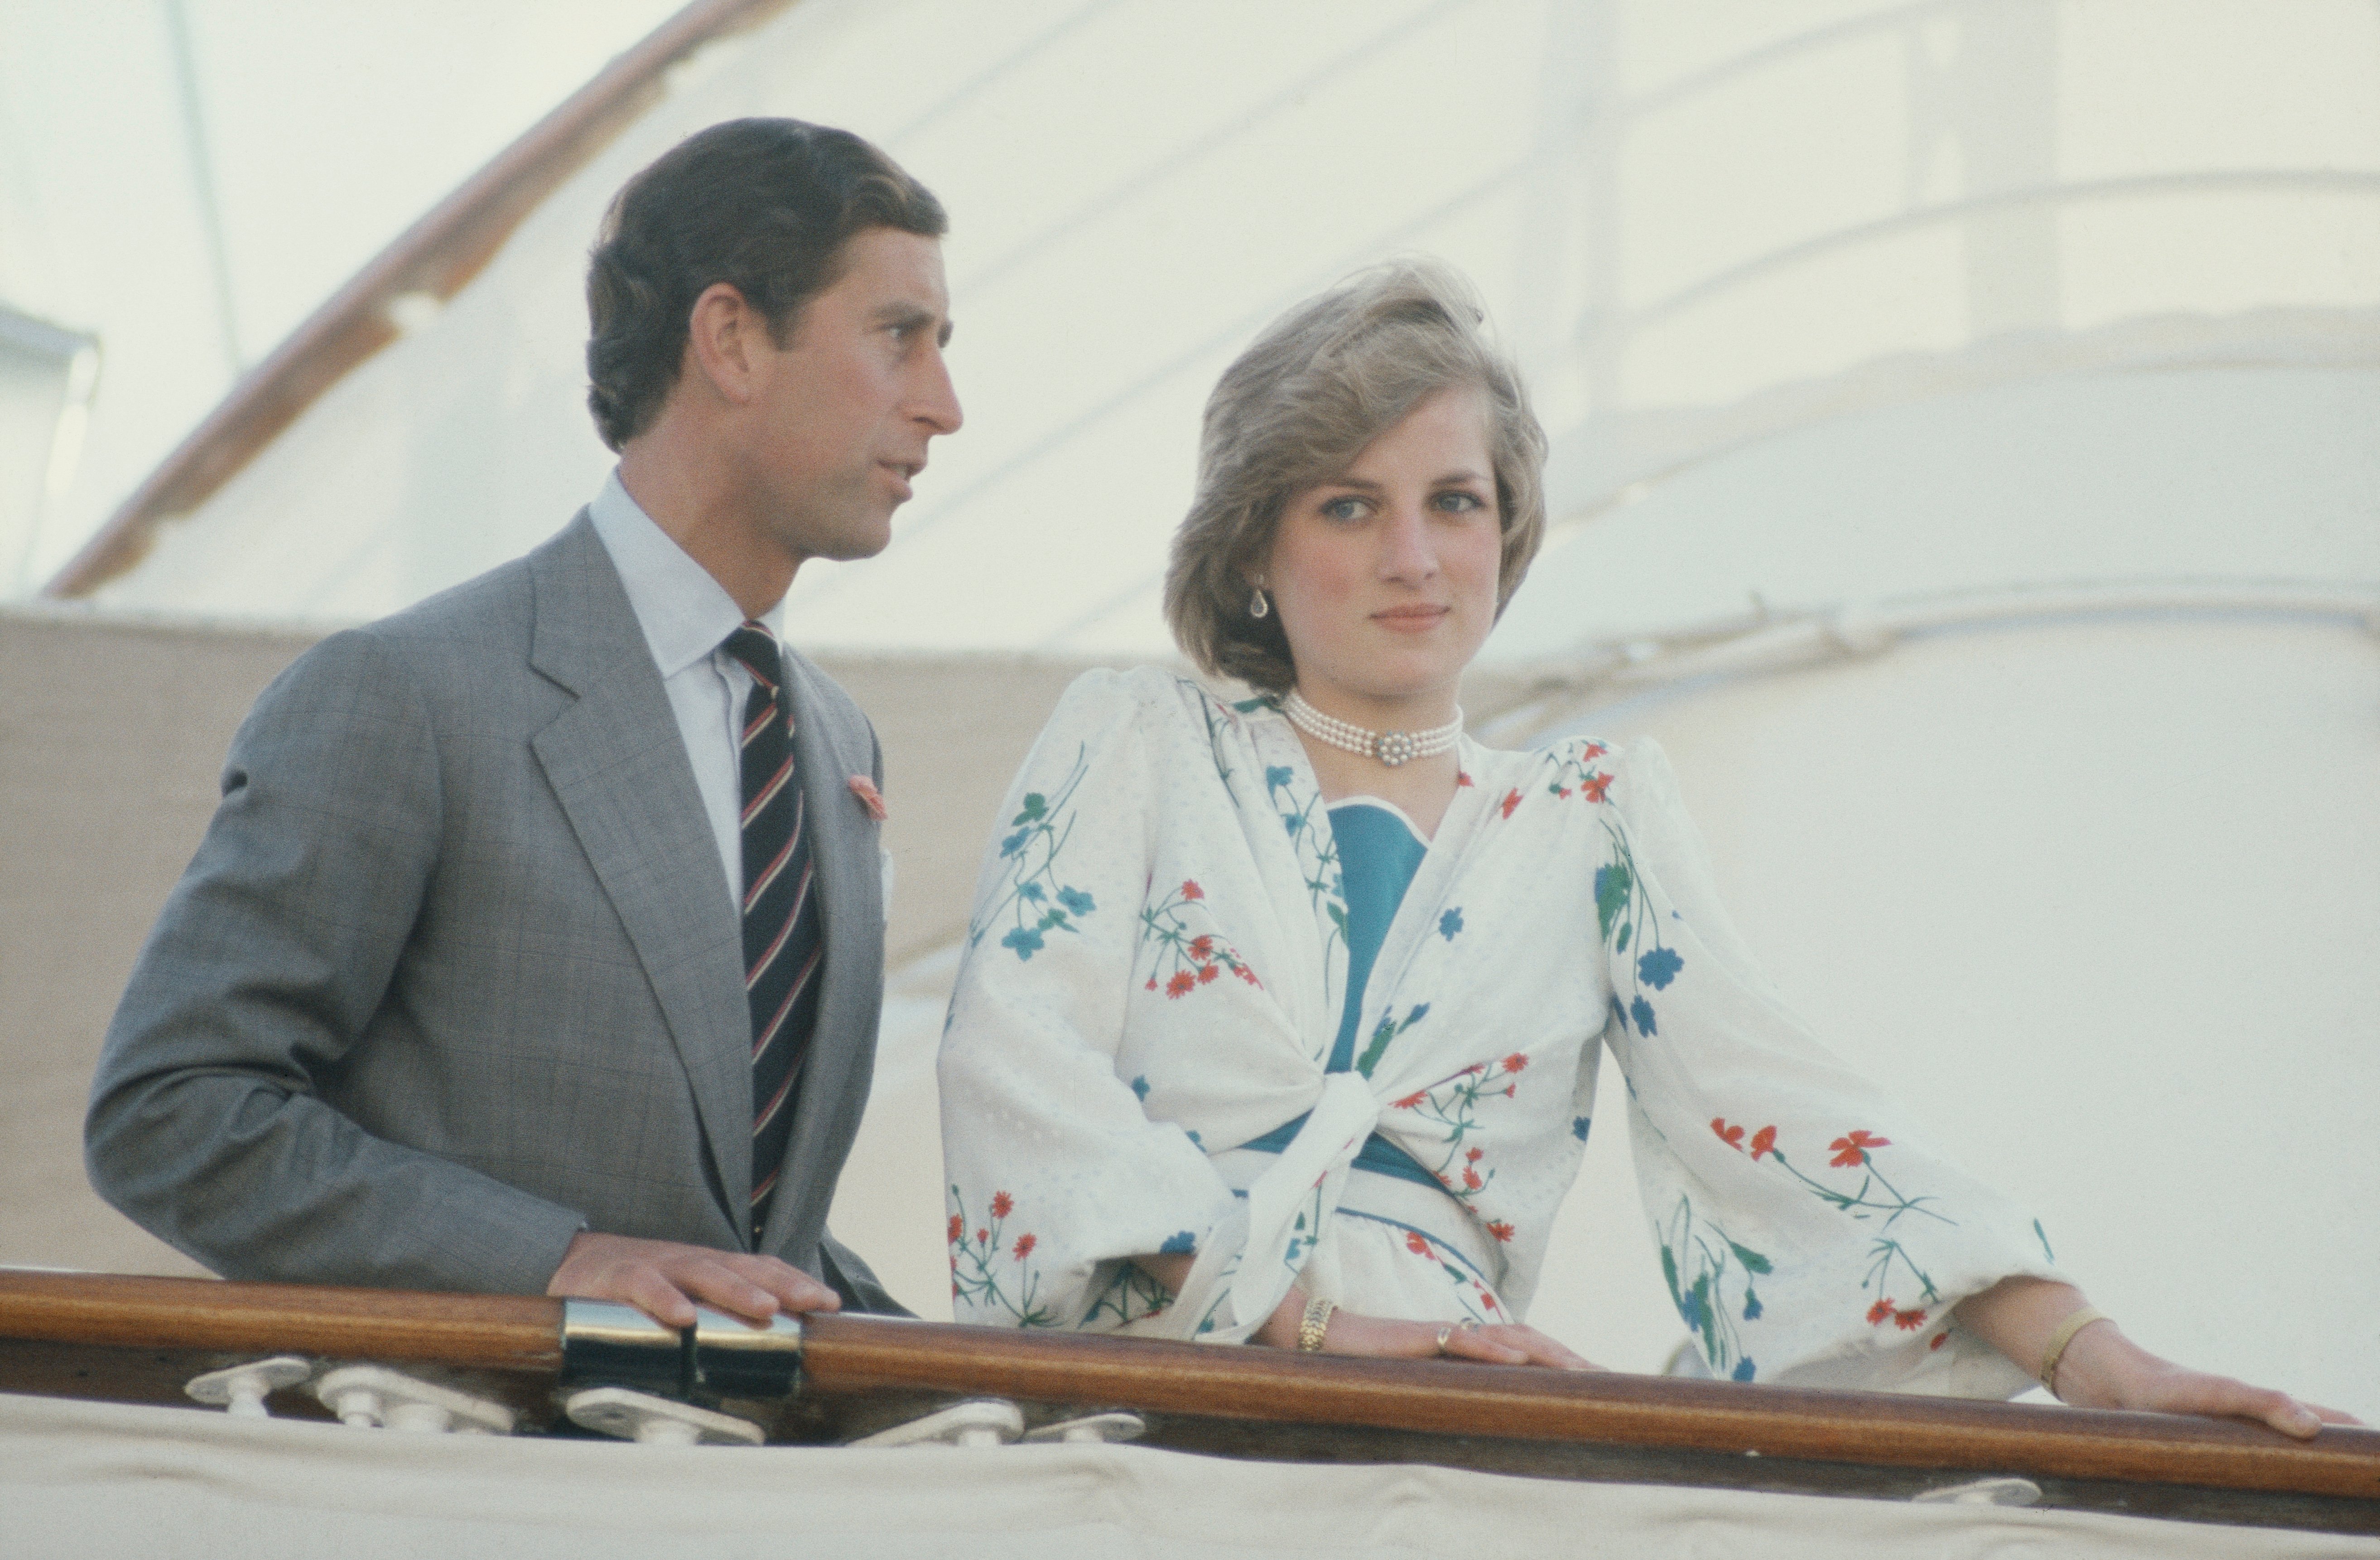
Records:
[[[793,767],[793,710],[776,636],[745,622],[721,645],[752,674],[743,717],[745,998],[752,1007],[752,1241],[793,1136],[793,1081],[819,1019],[826,936]]]

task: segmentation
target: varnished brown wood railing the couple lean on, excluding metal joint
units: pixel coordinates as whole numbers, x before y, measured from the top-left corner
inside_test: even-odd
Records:
[[[559,1300],[521,1296],[0,1272],[0,1391],[167,1400],[178,1391],[176,1372],[193,1362],[295,1353],[490,1372],[514,1381],[516,1400],[524,1391],[550,1400],[564,1372],[562,1317]],[[79,1379],[64,1369],[74,1360],[83,1360]],[[1233,1427],[1395,1431],[1416,1439],[1416,1458],[1440,1441],[1561,1443],[1702,1462],[1759,1458],[2192,1486],[2351,1503],[2344,1522],[2323,1524],[2380,1527],[2380,1431],[2368,1429],[2330,1427],[2313,1441],[2292,1441],[2256,1424],[2173,1415],[1304,1358],[883,1317],[804,1322],[804,1403],[921,1396],[1130,1408]],[[1264,1453],[1259,1443],[1247,1450]]]

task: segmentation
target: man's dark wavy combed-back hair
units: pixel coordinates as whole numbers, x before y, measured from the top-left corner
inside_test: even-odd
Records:
[[[588,410],[602,441],[616,450],[652,426],[704,288],[733,286],[785,345],[866,229],[940,238],[950,219],[881,150],[800,119],[714,124],[631,179],[588,260]]]

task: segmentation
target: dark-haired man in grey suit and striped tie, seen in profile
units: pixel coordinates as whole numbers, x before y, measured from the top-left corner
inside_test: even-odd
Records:
[[[621,191],[588,274],[619,467],[257,700],[93,1081],[117,1208],[240,1279],[892,1308],[826,1231],[881,757],[774,619],[802,562],[883,550],[959,426],[942,231],[790,119]]]

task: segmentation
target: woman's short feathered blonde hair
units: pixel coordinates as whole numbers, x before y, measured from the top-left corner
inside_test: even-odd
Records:
[[[1447,388],[1473,388],[1488,407],[1504,612],[1545,541],[1545,429],[1485,326],[1452,267],[1395,260],[1297,305],[1223,369],[1207,398],[1197,495],[1166,562],[1166,622],[1200,669],[1273,693],[1297,681],[1280,614],[1247,610],[1280,512]]]

